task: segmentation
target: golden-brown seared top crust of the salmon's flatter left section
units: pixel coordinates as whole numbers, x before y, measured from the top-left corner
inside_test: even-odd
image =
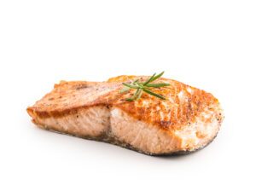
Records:
[[[57,118],[77,113],[82,108],[102,105],[103,103],[95,100],[108,93],[108,91],[115,90],[118,86],[120,85],[85,81],[61,81],[60,84],[55,84],[54,90],[46,94],[32,107],[27,107],[26,110],[29,114],[37,113],[40,118]]]

